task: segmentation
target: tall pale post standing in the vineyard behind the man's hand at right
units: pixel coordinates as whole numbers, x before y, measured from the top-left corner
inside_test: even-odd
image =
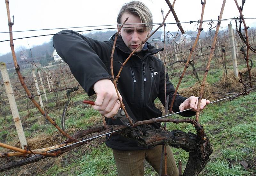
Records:
[[[231,53],[232,53],[232,59],[233,59],[234,76],[238,77],[238,70],[237,70],[237,63],[236,63],[236,46],[235,46],[235,39],[234,39],[234,31],[231,23],[228,24],[228,33],[229,33],[230,47],[231,47]]]

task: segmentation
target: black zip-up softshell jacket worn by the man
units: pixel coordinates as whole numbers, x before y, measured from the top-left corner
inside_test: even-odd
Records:
[[[71,32],[71,33],[67,33]],[[95,94],[92,87],[102,79],[111,79],[110,55],[115,35],[109,41],[100,42],[85,37],[73,31],[64,30],[53,36],[53,45],[60,57],[69,65],[72,74],[81,84],[89,96]],[[125,108],[132,119],[141,121],[162,116],[156,108],[154,100],[158,97],[164,104],[164,66],[163,62],[153,55],[163,49],[156,49],[147,43],[137,54],[133,55],[124,66],[118,80],[118,90],[123,97]],[[130,55],[131,51],[124,44],[121,36],[116,41],[113,57],[114,75],[116,76],[121,63]],[[169,81],[168,74],[166,91],[171,102],[175,89]],[[179,105],[185,97],[177,96],[173,111],[179,111]],[[182,113],[182,116],[195,115],[192,111]],[[106,119],[107,124],[121,125],[119,119]],[[153,124],[160,128],[160,124]],[[107,136],[108,138],[108,136]],[[113,134],[106,140],[108,147],[119,150],[145,149],[138,146],[134,140]]]

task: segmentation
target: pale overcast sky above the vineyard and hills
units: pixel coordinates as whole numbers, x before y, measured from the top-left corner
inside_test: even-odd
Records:
[[[115,25],[116,16],[121,6],[127,0],[9,0],[11,16],[14,15],[13,31],[31,30],[31,29],[49,29],[49,28],[68,28],[68,27],[84,27],[76,28],[73,30],[81,31],[92,29],[96,25]],[[153,14],[153,22],[161,23],[162,14],[161,8],[164,10],[164,14],[169,10],[168,5],[164,0],[141,0],[145,3]],[[171,3],[173,0],[171,0]],[[200,0],[177,0],[174,6],[174,10],[180,20],[180,22],[200,19],[202,5]],[[241,0],[238,0],[241,5]],[[220,14],[222,0],[207,0],[204,11],[204,20],[217,20]],[[244,4],[244,18],[255,18],[256,1],[246,0]],[[239,12],[236,8],[234,0],[227,0],[224,9],[222,19],[228,19],[238,17]],[[172,13],[169,14],[167,23],[175,22]],[[225,29],[228,23],[232,23],[235,27],[234,20],[222,21],[221,27]],[[8,40],[8,20],[6,13],[5,2],[0,2],[0,41]],[[256,19],[246,20],[247,26],[255,27]],[[196,30],[196,23],[182,24],[185,31]],[[214,26],[216,22],[214,23]],[[109,26],[115,27],[115,26]],[[204,23],[204,31],[210,26],[207,22]],[[94,27],[95,28],[108,28],[108,27]],[[156,27],[155,27],[156,28]],[[167,29],[171,31],[177,31],[177,25],[167,25]],[[15,32],[13,38],[20,38],[33,35],[54,34],[59,32],[57,30],[44,30],[44,31],[30,31],[30,32]],[[86,32],[84,32],[86,33]],[[34,45],[39,45],[44,42],[49,42],[52,36],[35,37],[28,39],[14,40],[15,49],[19,49],[20,46],[28,48]],[[11,52],[9,41],[0,42],[0,55],[7,52]]]

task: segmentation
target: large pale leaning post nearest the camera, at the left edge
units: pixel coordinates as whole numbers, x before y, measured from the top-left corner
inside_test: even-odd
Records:
[[[12,85],[11,85],[9,75],[8,75],[8,72],[6,69],[6,65],[4,62],[0,62],[0,70],[2,73],[2,77],[3,77],[6,94],[7,94],[9,103],[10,103],[10,108],[12,111],[12,117],[14,120],[14,124],[15,124],[16,130],[17,130],[17,133],[18,133],[18,136],[20,139],[20,145],[21,145],[21,148],[24,149],[24,145],[28,145],[28,144],[27,144],[26,137],[25,137],[23,127],[21,124],[20,114],[19,114],[19,111],[17,108],[15,97],[12,92]]]

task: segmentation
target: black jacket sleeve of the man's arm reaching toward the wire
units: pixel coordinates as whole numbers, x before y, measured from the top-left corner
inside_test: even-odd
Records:
[[[169,95],[169,105],[168,105],[168,109],[170,109],[170,105],[172,102],[172,96],[175,92],[175,88],[173,86],[173,84],[169,81],[169,75],[168,73],[166,73],[166,95]],[[162,66],[162,71],[161,71],[161,78],[160,78],[160,87],[159,87],[159,96],[158,98],[160,99],[161,103],[163,105],[165,105],[164,101],[164,65]],[[174,100],[173,103],[173,107],[172,107],[172,111],[174,112],[179,112],[179,106],[181,103],[183,103],[187,98],[180,96],[179,93],[177,92],[177,96]],[[179,113],[181,116],[183,117],[191,117],[194,116],[196,114],[196,112],[194,111],[185,111],[185,112],[180,112]]]

